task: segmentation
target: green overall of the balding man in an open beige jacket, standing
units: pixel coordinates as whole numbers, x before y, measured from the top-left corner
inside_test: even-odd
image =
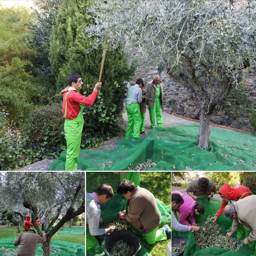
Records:
[[[149,107],[149,118],[150,118],[150,126],[151,128],[155,128],[155,117],[157,117],[157,126],[163,126],[163,117],[162,117],[162,109],[161,109],[161,89],[160,85],[155,90],[155,101],[154,106]]]

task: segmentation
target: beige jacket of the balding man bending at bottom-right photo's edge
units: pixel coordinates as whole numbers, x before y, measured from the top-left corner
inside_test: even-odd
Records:
[[[246,230],[251,230],[247,237],[249,241],[256,241],[256,195],[247,196],[233,204],[238,219],[233,220],[232,231],[237,231],[242,224]]]

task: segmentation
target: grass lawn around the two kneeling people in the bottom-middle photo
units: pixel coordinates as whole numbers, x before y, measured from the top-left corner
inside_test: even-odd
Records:
[[[113,172],[86,172],[86,191],[91,193],[102,183],[113,187],[114,192],[120,183],[119,177]],[[141,187],[149,190],[155,198],[166,205],[171,204],[171,174],[170,172],[141,172]],[[170,223],[169,223],[170,226]],[[145,247],[152,256],[165,256],[167,244],[170,241],[160,241],[153,245],[145,243]]]

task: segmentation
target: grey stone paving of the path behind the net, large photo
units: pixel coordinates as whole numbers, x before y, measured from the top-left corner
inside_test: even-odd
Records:
[[[163,115],[163,126],[164,127],[172,127],[177,125],[185,125],[188,123],[193,123],[191,121],[187,121],[185,119],[176,117],[175,115],[171,115],[165,112],[162,112]],[[121,127],[126,130],[126,125],[128,122],[127,114],[124,111],[123,112],[123,123],[121,124]],[[145,132],[148,133],[150,131],[150,121],[149,121],[149,111],[146,110],[146,117],[145,117]],[[145,137],[145,135],[141,135],[142,137]],[[117,146],[118,141],[120,141],[124,137],[113,137],[107,141],[104,141],[103,144],[99,147],[92,147],[90,150],[94,151],[101,151],[106,149],[114,149]],[[45,159],[41,160],[39,162],[30,164],[28,166],[22,167],[18,169],[18,171],[47,171],[50,164],[55,159]]]

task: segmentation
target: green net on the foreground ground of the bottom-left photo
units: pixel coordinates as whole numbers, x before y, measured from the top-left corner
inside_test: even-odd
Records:
[[[13,255],[16,254],[18,246],[13,245],[15,238],[0,239],[0,256],[12,256],[12,253],[3,252],[2,247],[12,251]],[[2,252],[1,252],[2,251]],[[2,253],[2,255],[1,255]],[[35,256],[42,256],[43,250],[41,244],[38,244]],[[73,244],[64,241],[51,241],[51,256],[84,256],[85,245]]]

